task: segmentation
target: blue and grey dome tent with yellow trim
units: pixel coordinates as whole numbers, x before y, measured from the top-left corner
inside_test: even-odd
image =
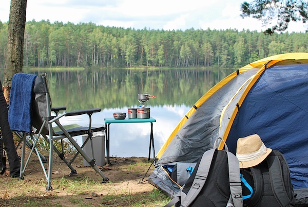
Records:
[[[162,166],[196,162],[217,137],[235,154],[237,139],[251,134],[284,155],[300,199],[308,192],[308,53],[258,60],[216,84],[171,133],[148,180],[172,197],[180,186]]]

